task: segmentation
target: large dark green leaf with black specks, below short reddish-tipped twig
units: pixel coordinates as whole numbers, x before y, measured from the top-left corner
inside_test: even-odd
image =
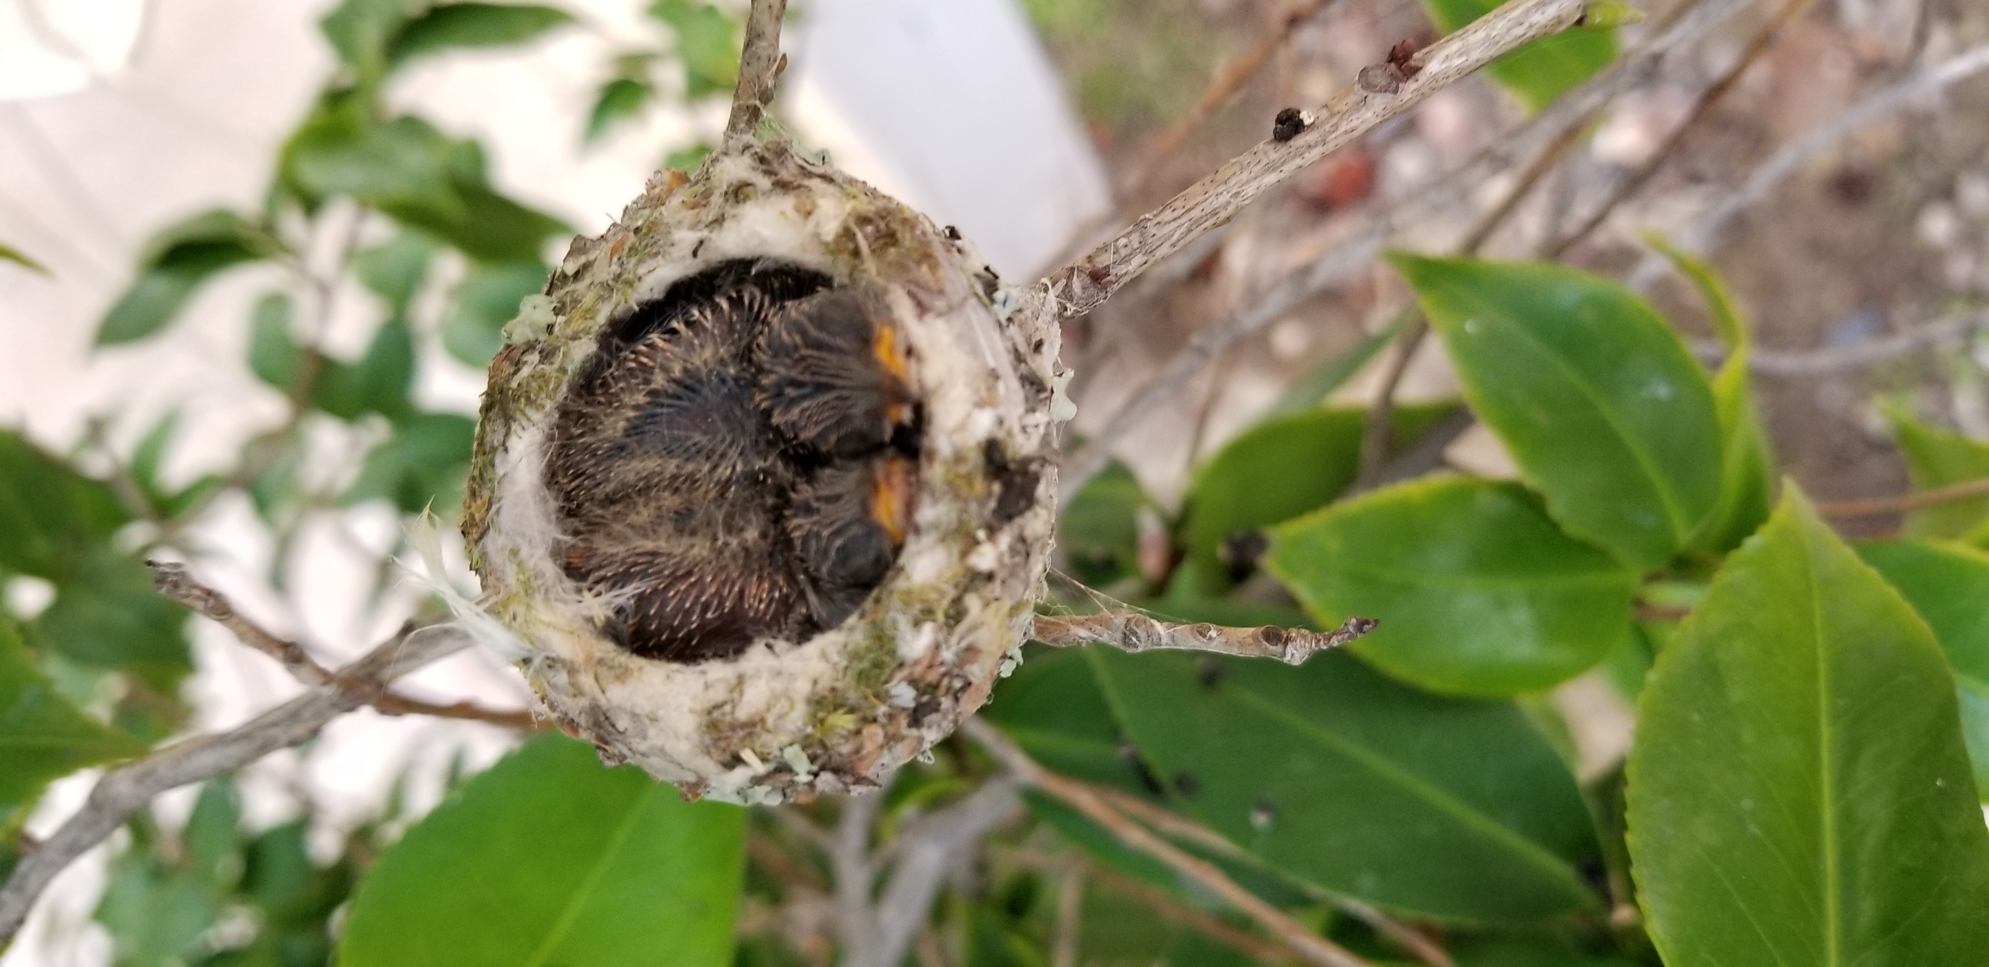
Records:
[[[1587,808],[1510,702],[1416,692],[1343,653],[1086,655],[1177,806],[1275,870],[1432,917],[1595,905]]]

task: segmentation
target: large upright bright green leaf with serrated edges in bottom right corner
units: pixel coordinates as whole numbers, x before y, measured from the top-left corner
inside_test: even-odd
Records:
[[[1651,669],[1629,848],[1665,963],[1919,967],[1989,949],[1955,684],[1792,484]]]

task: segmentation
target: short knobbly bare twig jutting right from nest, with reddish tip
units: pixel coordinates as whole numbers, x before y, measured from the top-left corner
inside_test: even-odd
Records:
[[[1378,625],[1374,619],[1351,617],[1345,625],[1327,633],[1281,629],[1277,625],[1225,629],[1221,625],[1177,625],[1130,609],[1112,609],[1096,615],[1036,615],[1030,637],[1052,649],[1112,645],[1128,653],[1154,649],[1209,651],[1215,655],[1305,665],[1305,659],[1311,659],[1315,653],[1347,645],[1374,631],[1374,625]]]

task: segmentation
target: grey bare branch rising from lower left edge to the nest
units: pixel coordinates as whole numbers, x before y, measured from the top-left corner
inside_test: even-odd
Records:
[[[432,629],[428,635],[418,631],[430,629],[404,629],[340,669],[332,680],[263,712],[241,728],[187,738],[105,772],[90,790],[84,808],[54,836],[26,852],[0,887],[0,945],[14,937],[56,873],[103,842],[161,792],[233,772],[278,748],[304,742],[318,734],[324,722],[366,704],[386,682],[469,645],[452,631]]]

